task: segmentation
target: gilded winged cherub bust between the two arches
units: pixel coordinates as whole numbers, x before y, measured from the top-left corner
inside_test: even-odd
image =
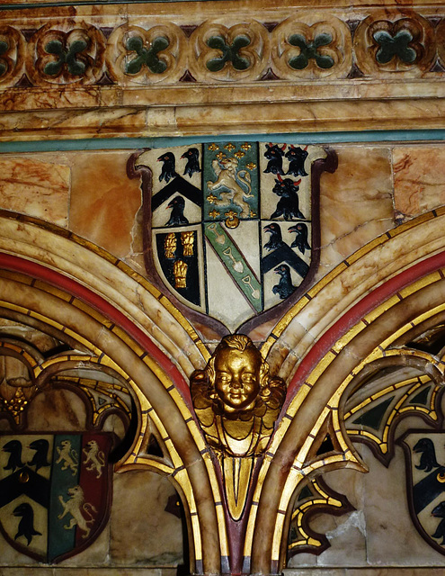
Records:
[[[221,340],[204,370],[191,375],[191,398],[209,445],[236,457],[260,455],[269,443],[285,385],[269,374],[252,340]]]

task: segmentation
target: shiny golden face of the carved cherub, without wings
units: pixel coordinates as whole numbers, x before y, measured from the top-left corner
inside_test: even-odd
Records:
[[[225,348],[215,359],[215,390],[227,411],[249,410],[260,392],[261,355]]]

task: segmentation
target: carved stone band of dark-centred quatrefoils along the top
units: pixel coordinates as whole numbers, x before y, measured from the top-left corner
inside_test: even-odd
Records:
[[[43,24],[17,16],[0,31],[0,82],[7,86],[23,85],[23,51],[31,85],[103,85],[104,74],[105,84],[121,86],[332,78],[353,84],[357,77],[443,74],[443,14],[433,22],[415,11],[372,11],[352,21],[351,14],[320,10],[274,23],[261,14],[224,21],[204,15],[193,23],[135,15],[123,24],[108,14]]]

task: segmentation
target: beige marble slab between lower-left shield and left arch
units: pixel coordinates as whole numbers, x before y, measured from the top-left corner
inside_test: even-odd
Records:
[[[165,511],[175,491],[155,473],[115,474],[111,509],[111,561],[127,566],[182,563],[182,522]]]

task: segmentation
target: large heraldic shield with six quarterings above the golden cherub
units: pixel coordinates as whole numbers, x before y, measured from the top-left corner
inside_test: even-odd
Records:
[[[147,274],[230,331],[296,296],[316,266],[312,166],[326,156],[236,141],[141,153]]]

